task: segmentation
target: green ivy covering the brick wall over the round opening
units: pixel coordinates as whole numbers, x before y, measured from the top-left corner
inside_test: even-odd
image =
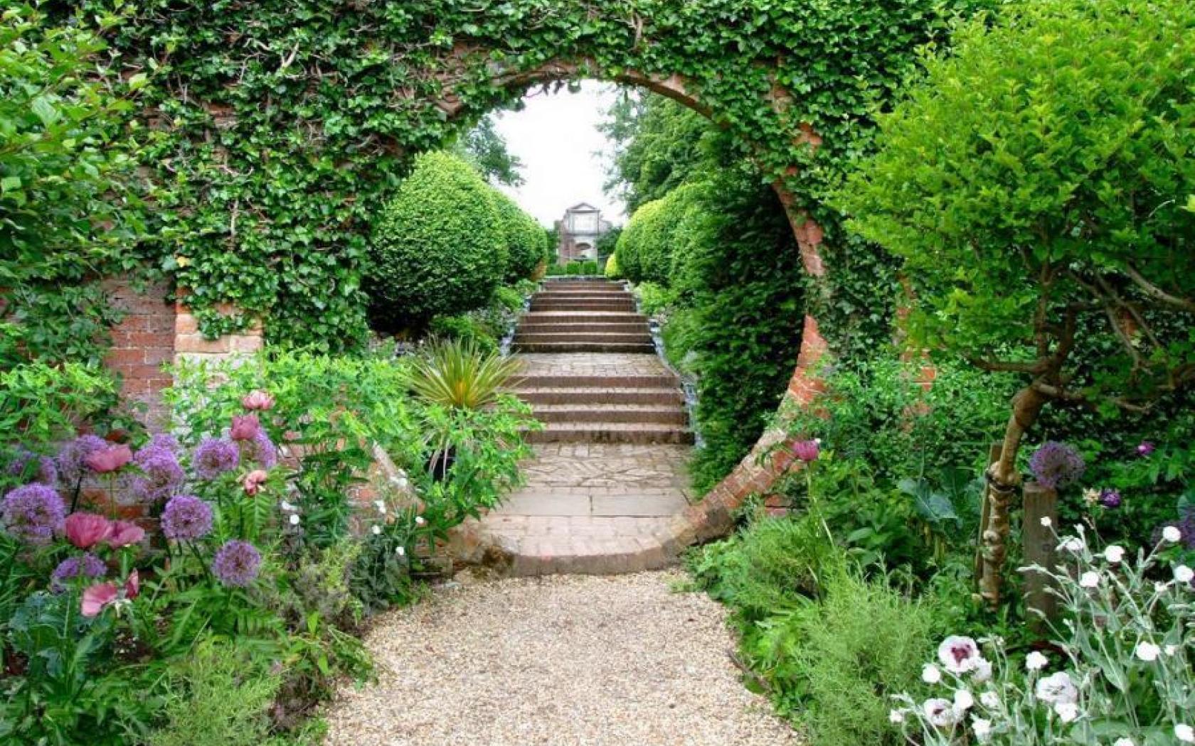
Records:
[[[952,14],[993,2],[81,0],[73,8],[90,17],[117,7],[125,16],[110,39],[117,64],[151,73],[147,119],[158,136],[147,165],[158,177],[161,263],[188,289],[202,331],[227,333],[259,316],[271,340],[335,350],[363,338],[368,236],[410,159],[546,79],[636,82],[709,115],[753,150],[762,178],[783,185],[791,214],[821,226],[831,276],[845,279],[833,272],[840,232],[823,195],[866,149],[870,112],[913,68],[917,48],[942,36]],[[835,291],[819,315],[858,315],[852,292]],[[241,313],[221,310],[229,307]]]

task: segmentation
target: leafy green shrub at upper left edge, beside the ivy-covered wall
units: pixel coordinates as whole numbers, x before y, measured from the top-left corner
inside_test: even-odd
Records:
[[[139,258],[143,132],[125,119],[146,76],[98,63],[116,20],[54,26],[22,4],[0,16],[0,370],[98,363],[118,319],[98,279]]]

